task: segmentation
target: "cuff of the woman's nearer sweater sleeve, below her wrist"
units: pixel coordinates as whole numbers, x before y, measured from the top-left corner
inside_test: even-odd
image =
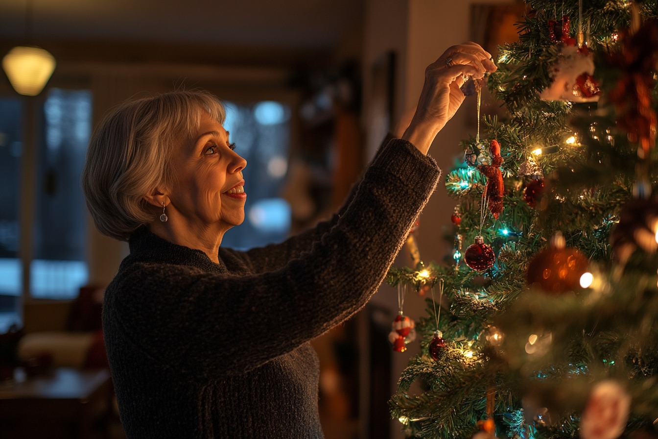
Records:
[[[441,169],[432,157],[422,154],[413,143],[402,139],[392,139],[371,166],[413,184],[419,193],[433,192],[441,176]]]

